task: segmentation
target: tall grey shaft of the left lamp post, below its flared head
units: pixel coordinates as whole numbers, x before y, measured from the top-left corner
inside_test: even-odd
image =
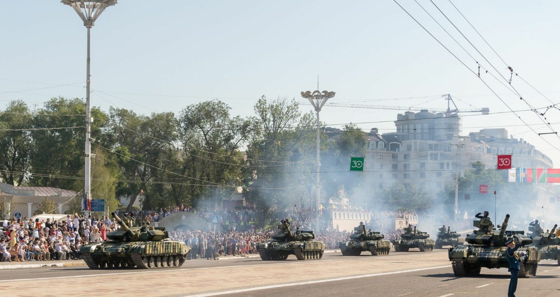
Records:
[[[85,181],[83,183],[83,192],[86,196],[86,203],[91,199],[91,26],[87,26],[87,59],[86,59],[86,143],[85,143],[85,164],[84,173]],[[87,206],[85,208],[87,210]],[[86,215],[90,215],[90,211],[86,211]]]

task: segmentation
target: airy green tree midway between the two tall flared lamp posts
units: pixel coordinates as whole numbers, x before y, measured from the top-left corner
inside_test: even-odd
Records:
[[[241,185],[245,161],[239,150],[256,134],[254,118],[232,117],[230,110],[222,101],[204,101],[186,106],[179,116],[185,164],[190,162],[204,172],[204,178],[197,178],[195,183],[211,186],[205,192],[212,197],[212,206]],[[190,158],[197,161],[193,163]]]

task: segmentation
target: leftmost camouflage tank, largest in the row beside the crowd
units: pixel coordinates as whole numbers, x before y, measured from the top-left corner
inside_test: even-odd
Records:
[[[91,269],[180,267],[190,247],[171,241],[164,227],[132,227],[133,219],[111,214],[120,228],[107,234],[107,241],[85,244],[80,257]]]

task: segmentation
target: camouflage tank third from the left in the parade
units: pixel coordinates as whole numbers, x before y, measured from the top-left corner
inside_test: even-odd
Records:
[[[391,242],[383,239],[385,235],[380,232],[366,232],[365,228],[354,228],[354,234],[350,235],[349,241],[338,244],[342,256],[359,256],[362,252],[370,252],[373,256],[388,254]]]

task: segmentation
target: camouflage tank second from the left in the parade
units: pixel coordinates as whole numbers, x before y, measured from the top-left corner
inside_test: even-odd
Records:
[[[278,230],[269,241],[257,244],[256,250],[262,260],[286,260],[290,254],[294,254],[297,260],[317,260],[323,257],[325,244],[313,240],[313,231],[297,230],[292,233],[290,229],[283,229],[282,225],[278,225]]]

